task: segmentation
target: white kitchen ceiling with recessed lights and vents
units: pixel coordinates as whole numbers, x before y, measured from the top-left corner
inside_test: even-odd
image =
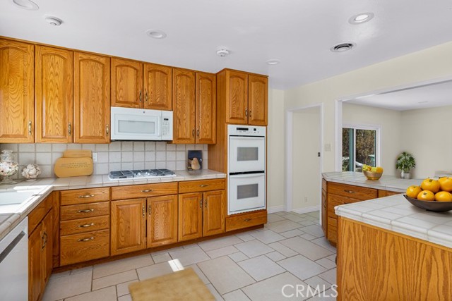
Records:
[[[270,75],[287,89],[452,40],[451,0],[34,0],[0,1],[0,35],[207,72]],[[348,23],[357,13],[374,19]],[[51,26],[44,16],[64,23]],[[151,39],[148,29],[166,39]],[[329,49],[340,42],[357,47]],[[231,54],[221,58],[218,47]],[[280,59],[268,66],[268,59]]]

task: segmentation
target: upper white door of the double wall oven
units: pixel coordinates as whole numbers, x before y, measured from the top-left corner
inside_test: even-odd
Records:
[[[265,137],[229,137],[229,173],[265,171]]]

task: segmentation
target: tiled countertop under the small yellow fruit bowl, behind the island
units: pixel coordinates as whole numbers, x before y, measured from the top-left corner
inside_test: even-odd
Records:
[[[379,180],[367,180],[364,173],[355,171],[335,171],[332,173],[322,173],[322,176],[328,182],[343,183],[367,188],[381,190],[391,190],[394,192],[405,192],[411,185],[421,185],[423,179],[405,180],[396,178],[396,176],[383,176]]]

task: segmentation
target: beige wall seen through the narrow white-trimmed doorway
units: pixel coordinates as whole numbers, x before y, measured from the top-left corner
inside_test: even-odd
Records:
[[[292,210],[320,204],[320,106],[295,111],[292,116]]]

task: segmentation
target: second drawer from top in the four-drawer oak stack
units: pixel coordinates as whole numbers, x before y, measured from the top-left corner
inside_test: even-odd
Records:
[[[110,202],[61,206],[60,221],[110,214]]]

